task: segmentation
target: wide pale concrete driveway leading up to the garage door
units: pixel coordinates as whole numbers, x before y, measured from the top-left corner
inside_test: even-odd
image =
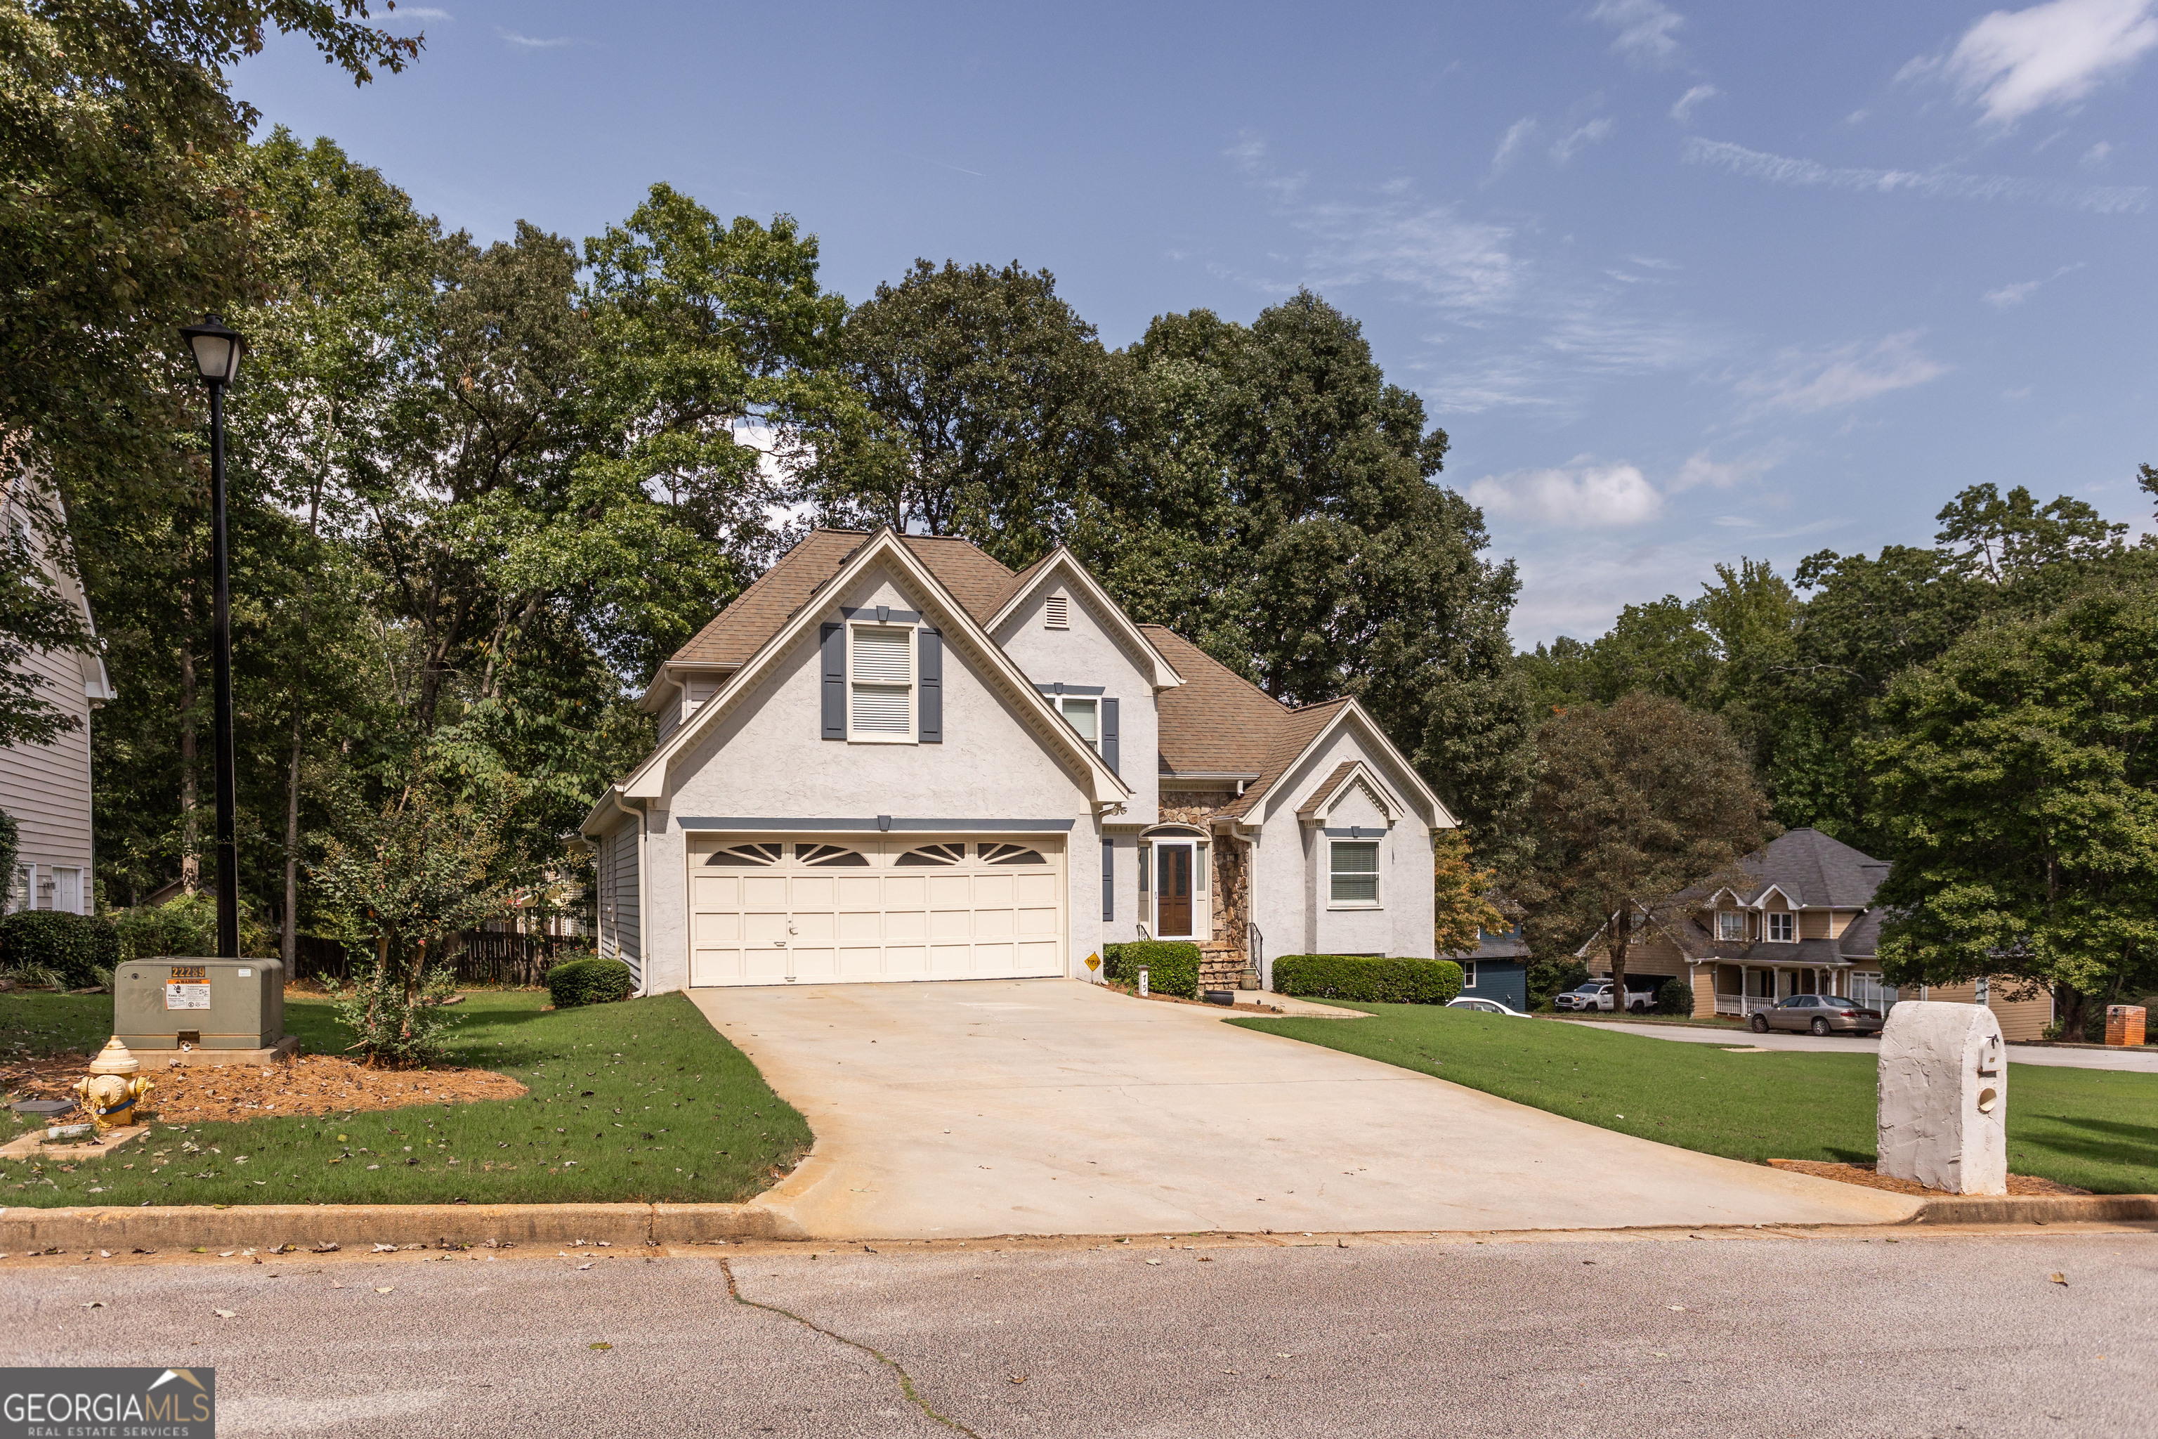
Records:
[[[803,1236],[1893,1223],[1916,1208],[1077,979],[691,999],[818,1135],[762,1202]]]

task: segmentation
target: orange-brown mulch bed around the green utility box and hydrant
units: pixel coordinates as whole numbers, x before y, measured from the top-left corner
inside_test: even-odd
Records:
[[[0,1066],[0,1092],[26,1098],[76,1098],[88,1055],[26,1059]],[[270,1066],[173,1066],[145,1074],[158,1081],[142,1107],[162,1124],[259,1120],[289,1113],[356,1113],[408,1105],[514,1100],[524,1085],[492,1070],[371,1070],[339,1055],[300,1055]]]

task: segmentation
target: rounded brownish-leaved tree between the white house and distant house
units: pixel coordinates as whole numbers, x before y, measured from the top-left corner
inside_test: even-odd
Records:
[[[1595,936],[1623,1003],[1642,917],[1754,850],[1774,828],[1767,798],[1718,716],[1662,695],[1567,710],[1536,749],[1532,861],[1513,893],[1539,949]]]

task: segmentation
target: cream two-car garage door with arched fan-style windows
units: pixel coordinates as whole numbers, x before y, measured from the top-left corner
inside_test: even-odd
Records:
[[[693,986],[1064,973],[1062,837],[712,837],[688,889]]]

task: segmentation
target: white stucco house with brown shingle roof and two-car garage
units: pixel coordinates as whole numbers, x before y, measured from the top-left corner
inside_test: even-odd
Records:
[[[656,749],[583,824],[643,992],[1433,954],[1454,820],[1370,716],[1278,703],[1066,550],[814,531],[643,705]]]

